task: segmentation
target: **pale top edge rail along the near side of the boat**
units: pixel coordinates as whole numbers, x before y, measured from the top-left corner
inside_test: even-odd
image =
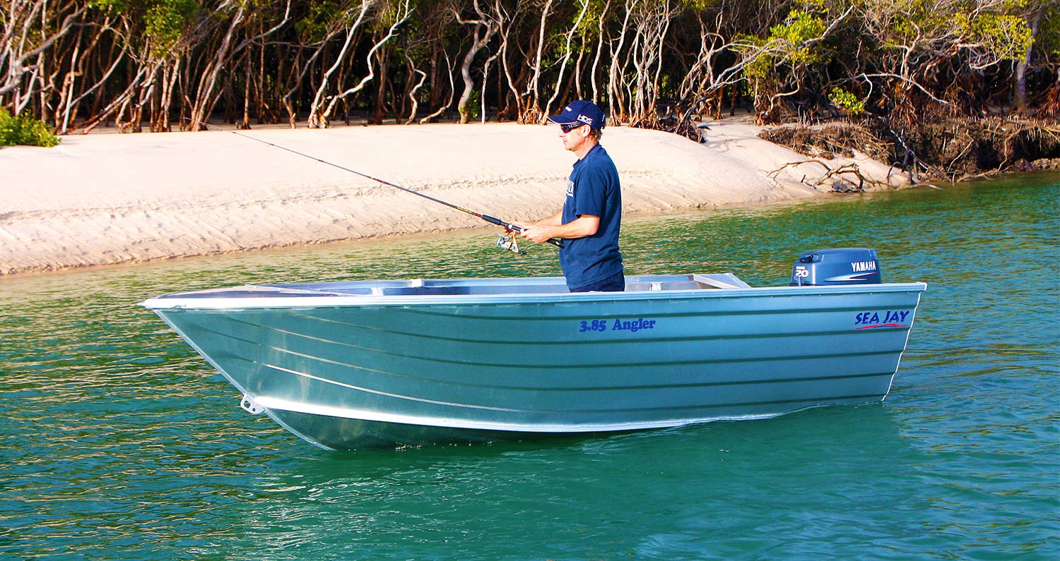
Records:
[[[318,285],[319,286],[319,285]],[[247,285],[231,289],[273,288],[280,286]],[[877,292],[924,292],[926,283],[884,283],[873,285],[842,286],[781,286],[752,288],[695,288],[683,290],[638,290],[630,292],[527,292],[493,294],[339,294],[321,291],[319,295],[276,294],[268,296],[193,296],[192,292],[178,292],[140,302],[151,310],[242,310],[242,309],[306,309],[348,307],[407,307],[407,306],[482,306],[504,304],[567,304],[591,302],[640,302],[654,300],[742,298],[762,296],[813,296],[862,294]],[[189,294],[187,297],[181,297]],[[919,300],[919,298],[918,298]]]

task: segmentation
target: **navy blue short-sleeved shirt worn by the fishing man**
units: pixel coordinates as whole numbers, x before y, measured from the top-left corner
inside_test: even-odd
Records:
[[[575,162],[563,203],[563,223],[587,214],[600,217],[600,228],[591,236],[564,239],[560,266],[567,287],[579,288],[622,272],[618,233],[622,221],[622,193],[618,169],[607,150],[597,144],[585,158]]]

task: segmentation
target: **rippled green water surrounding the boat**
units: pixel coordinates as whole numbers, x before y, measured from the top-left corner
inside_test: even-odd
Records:
[[[556,274],[492,231],[0,279],[0,559],[1060,558],[1058,201],[1053,175],[628,219],[632,274],[785,284],[864,246],[929,291],[882,404],[610,437],[325,452],[135,306]]]

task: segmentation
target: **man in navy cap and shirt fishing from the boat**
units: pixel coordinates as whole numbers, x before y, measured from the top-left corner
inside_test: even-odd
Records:
[[[523,228],[520,236],[535,243],[563,240],[560,266],[571,292],[625,290],[618,233],[622,221],[622,194],[618,169],[600,145],[603,111],[593,102],[571,102],[563,112],[548,117],[560,125],[563,146],[578,161],[567,180],[563,210]]]

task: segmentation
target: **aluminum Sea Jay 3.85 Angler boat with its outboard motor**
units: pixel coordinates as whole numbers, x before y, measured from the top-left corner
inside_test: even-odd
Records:
[[[922,283],[871,250],[795,263],[792,285],[730,273],[255,285],[158,296],[155,311],[264,413],[325,449],[524,439],[762,418],[883,400]]]

